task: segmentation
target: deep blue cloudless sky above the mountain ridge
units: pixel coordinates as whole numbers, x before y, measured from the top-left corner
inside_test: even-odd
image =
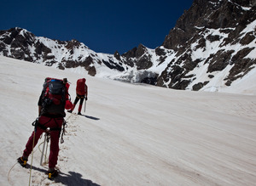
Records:
[[[156,48],[193,0],[2,0],[0,30],[76,39],[97,53],[124,54],[140,43]]]

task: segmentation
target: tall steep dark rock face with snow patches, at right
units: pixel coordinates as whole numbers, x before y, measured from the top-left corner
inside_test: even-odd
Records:
[[[223,78],[227,86],[246,75],[256,64],[256,9],[253,4],[255,1],[250,0],[195,0],[162,44],[177,54],[173,64],[158,77],[157,84],[162,86],[170,82],[168,87],[177,89],[190,84],[190,89],[199,90],[214,74],[223,70],[230,69]],[[206,82],[198,82],[198,73],[212,77]]]

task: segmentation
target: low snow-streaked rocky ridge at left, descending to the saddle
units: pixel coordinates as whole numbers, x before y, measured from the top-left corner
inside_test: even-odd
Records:
[[[15,59],[55,66],[61,70],[80,67],[88,71],[90,76],[96,76],[96,66],[101,66],[103,63],[113,63],[111,61],[112,56],[108,58],[108,54],[104,54],[103,60],[79,41],[61,42],[45,37],[36,37],[31,32],[21,28],[0,31],[0,54]],[[114,68],[119,67],[115,63],[113,64]],[[121,67],[119,67],[120,69]]]

